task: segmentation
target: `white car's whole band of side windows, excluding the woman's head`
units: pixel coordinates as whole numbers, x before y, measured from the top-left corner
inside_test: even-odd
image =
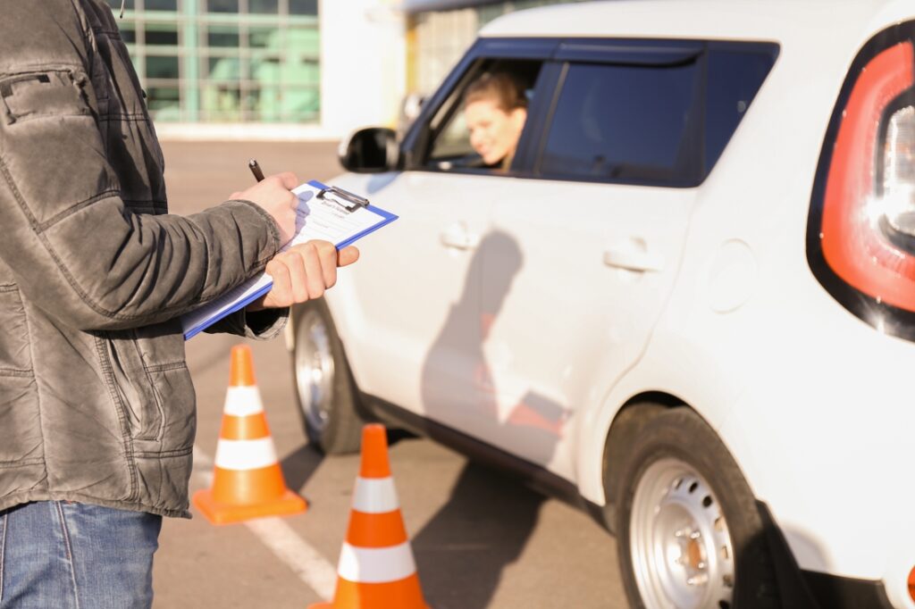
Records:
[[[411,168],[698,186],[724,154],[779,54],[777,44],[766,42],[496,42],[536,46],[537,57],[550,59],[471,55],[416,130]],[[522,83],[527,114],[517,154],[493,163],[471,140],[473,117],[468,120],[465,111],[474,83],[498,73]]]

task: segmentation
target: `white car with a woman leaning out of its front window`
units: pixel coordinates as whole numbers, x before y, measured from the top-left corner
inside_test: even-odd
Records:
[[[915,609],[915,3],[491,23],[333,184],[400,216],[296,309],[309,436],[425,433],[580,497],[633,607]],[[522,80],[511,168],[462,94]]]

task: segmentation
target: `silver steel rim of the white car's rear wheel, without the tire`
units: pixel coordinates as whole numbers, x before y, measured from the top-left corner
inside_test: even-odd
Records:
[[[647,609],[728,609],[734,548],[711,487],[690,465],[665,458],[645,470],[630,515],[630,553]]]

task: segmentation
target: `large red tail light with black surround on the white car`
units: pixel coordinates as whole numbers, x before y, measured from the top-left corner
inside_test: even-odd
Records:
[[[880,331],[915,339],[913,24],[869,42],[823,144],[807,253],[823,286]]]

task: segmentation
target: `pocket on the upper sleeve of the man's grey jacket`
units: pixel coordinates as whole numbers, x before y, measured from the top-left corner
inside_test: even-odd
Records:
[[[92,116],[90,102],[85,97],[85,82],[85,77],[77,77],[68,69],[27,72],[0,80],[5,123]]]

